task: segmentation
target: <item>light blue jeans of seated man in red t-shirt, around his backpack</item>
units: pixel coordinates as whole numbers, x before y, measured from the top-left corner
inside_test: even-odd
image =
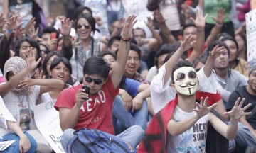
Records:
[[[63,135],[61,136],[60,143],[63,146],[63,149],[65,152],[68,148],[68,142],[75,137],[73,134],[75,130],[74,129],[67,129],[63,132]],[[117,137],[122,138],[122,140],[129,142],[132,146],[137,147],[139,145],[140,140],[142,140],[142,137],[144,135],[144,130],[139,127],[138,125],[134,125],[121,134],[117,135]],[[78,152],[84,152],[84,150],[81,149],[82,144],[79,142],[79,140],[75,140],[73,142],[72,151],[75,153]]]

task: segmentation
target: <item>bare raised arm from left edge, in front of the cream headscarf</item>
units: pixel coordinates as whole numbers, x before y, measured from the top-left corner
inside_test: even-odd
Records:
[[[31,53],[31,50],[29,50],[24,57],[26,58],[27,67],[18,74],[14,75],[14,77],[11,77],[11,79],[7,81],[6,84],[0,85],[0,96],[4,97],[6,94],[9,93],[9,91],[14,89],[14,87],[18,86],[20,81],[24,77],[26,77],[26,74],[35,69],[37,65],[41,62],[41,58],[36,61],[36,57]]]

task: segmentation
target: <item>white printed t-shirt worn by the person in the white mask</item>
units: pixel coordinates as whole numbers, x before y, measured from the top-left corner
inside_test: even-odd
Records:
[[[176,122],[190,118],[196,112],[182,111],[176,106],[174,109],[174,120]],[[173,137],[167,132],[166,150],[167,152],[206,152],[208,115],[200,118],[190,129],[181,135]]]

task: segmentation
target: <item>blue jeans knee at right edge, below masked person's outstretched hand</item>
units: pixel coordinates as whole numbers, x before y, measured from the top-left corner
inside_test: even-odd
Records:
[[[238,123],[238,134],[235,137],[235,142],[240,147],[250,146],[252,148],[256,148],[256,140],[252,136],[252,133],[243,123]]]

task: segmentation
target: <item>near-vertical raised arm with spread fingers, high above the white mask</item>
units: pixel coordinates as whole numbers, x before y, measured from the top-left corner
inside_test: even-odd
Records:
[[[188,61],[193,63],[193,60],[196,59],[196,57],[202,55],[203,53],[203,44],[205,42],[204,38],[204,28],[206,26],[206,16],[203,17],[203,11],[202,10],[196,10],[196,19],[191,18],[193,23],[195,24],[197,28],[196,33],[196,44],[193,46],[193,52],[191,52],[191,55],[188,57]]]

